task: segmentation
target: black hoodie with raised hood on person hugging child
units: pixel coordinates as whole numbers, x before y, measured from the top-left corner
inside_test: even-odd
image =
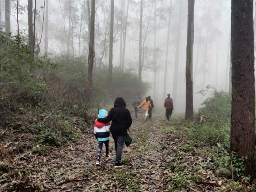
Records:
[[[122,97],[117,97],[114,107],[110,109],[108,116],[105,118],[98,118],[97,121],[101,123],[110,122],[110,131],[120,135],[126,135],[127,130],[132,124],[132,117],[130,111],[125,108],[126,104]]]

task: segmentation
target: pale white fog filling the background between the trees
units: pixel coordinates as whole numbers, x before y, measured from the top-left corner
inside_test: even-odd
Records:
[[[180,2],[182,1],[182,3]],[[170,7],[171,4],[171,9]],[[23,7],[19,14],[20,31],[28,33],[27,1],[20,0]],[[74,55],[79,57],[79,32],[81,27],[81,50],[80,54],[88,59],[88,14],[87,1],[72,1],[72,25],[74,30]],[[126,16],[127,0],[124,0],[124,17]],[[40,38],[43,21],[43,0],[37,0],[36,36]],[[49,29],[48,29],[48,51],[51,56],[67,51],[65,32],[68,32],[69,20],[67,15],[67,0],[49,0]],[[85,6],[84,6],[85,5]],[[34,2],[33,2],[34,6]],[[180,7],[182,6],[182,7]],[[17,30],[15,4],[11,2],[11,32]],[[61,9],[64,16],[61,13]],[[162,107],[167,93],[173,98],[173,78],[177,41],[179,41],[178,70],[177,70],[177,96],[173,98],[174,111],[185,111],[185,70],[186,70],[186,38],[187,38],[187,0],[157,0],[156,1],[156,28],[154,26],[154,1],[144,0],[142,20],[142,42],[144,66],[142,69],[142,80],[151,83],[149,92],[156,106]],[[1,0],[1,22],[4,22],[4,2]],[[167,42],[168,16],[171,10],[170,37]],[[181,17],[179,13],[181,11]],[[113,65],[120,65],[120,13],[121,0],[115,1],[114,18],[114,45]],[[65,18],[65,20],[63,20]],[[81,18],[82,22],[81,22]],[[128,27],[126,36],[126,48],[124,69],[138,70],[139,58],[139,18],[140,1],[130,0],[128,9]],[[125,21],[125,20],[124,20]],[[108,46],[103,42],[109,41],[110,1],[96,1],[95,16],[95,65],[99,65],[102,58],[102,66],[108,66]],[[180,30],[178,26],[180,24]],[[228,91],[229,77],[229,46],[231,28],[231,0],[196,0],[194,12],[194,46],[193,46],[193,96],[194,109],[200,108],[202,101],[209,94],[202,95],[198,92],[205,89],[207,85],[213,85],[217,90]],[[154,96],[154,32],[156,37],[156,95]],[[105,34],[106,33],[106,34]],[[146,34],[146,35],[145,35]],[[178,34],[180,39],[178,40]],[[145,37],[146,36],[146,37]],[[44,38],[44,31],[43,37]],[[166,45],[169,44],[168,52]],[[43,50],[44,42],[40,44]],[[70,52],[72,48],[70,47]],[[104,51],[105,50],[105,51]],[[42,51],[43,54],[43,51]],[[164,65],[166,54],[168,55],[166,92],[164,93]],[[134,85],[136,86],[136,85]],[[143,96],[144,97],[144,96]],[[132,100],[133,98],[131,98]]]

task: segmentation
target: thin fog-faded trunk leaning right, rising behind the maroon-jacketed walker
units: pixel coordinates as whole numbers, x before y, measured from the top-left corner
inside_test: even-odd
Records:
[[[168,52],[169,52],[169,40],[170,40],[170,27],[171,27],[171,10],[172,10],[172,0],[170,0],[169,8],[169,18],[168,18],[168,30],[167,30],[167,41],[166,41],[166,51],[165,51],[165,67],[164,67],[164,98],[166,97],[166,77],[167,77],[167,65],[168,65]]]

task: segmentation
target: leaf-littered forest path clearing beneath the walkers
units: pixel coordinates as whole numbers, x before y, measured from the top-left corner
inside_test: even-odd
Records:
[[[175,124],[180,121],[172,117],[166,122],[164,112],[153,111],[152,120],[146,122],[142,112],[139,116],[130,127],[133,142],[129,147],[124,146],[122,160],[125,165],[122,168],[114,168],[112,136],[110,160],[105,160],[103,145],[101,166],[95,165],[98,144],[92,128],[87,129],[75,144],[51,148],[45,156],[26,153],[21,154],[20,160],[16,156],[16,166],[28,170],[28,181],[45,192],[227,191],[223,185],[229,181],[222,180],[221,185],[213,176],[212,160],[205,145],[186,139],[189,127],[177,129]]]

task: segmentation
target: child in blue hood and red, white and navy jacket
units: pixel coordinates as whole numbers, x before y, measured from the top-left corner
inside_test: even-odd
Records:
[[[108,112],[104,109],[101,109],[99,111],[98,117],[104,118],[108,115]],[[100,157],[101,157],[101,151],[103,147],[103,143],[105,143],[106,147],[106,159],[110,159],[109,155],[109,132],[110,132],[110,123],[100,123],[97,120],[94,122],[94,135],[98,141],[98,150],[97,150],[97,162],[96,165],[100,165]]]

